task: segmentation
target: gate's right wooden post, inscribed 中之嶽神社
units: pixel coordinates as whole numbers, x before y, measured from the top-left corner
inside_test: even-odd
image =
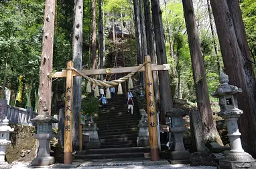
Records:
[[[159,160],[159,147],[157,142],[157,123],[155,112],[155,98],[153,93],[153,76],[151,69],[151,59],[149,55],[145,56],[145,61],[150,61],[145,64],[145,86],[147,98],[147,118],[149,124],[149,144],[150,144],[150,160]]]

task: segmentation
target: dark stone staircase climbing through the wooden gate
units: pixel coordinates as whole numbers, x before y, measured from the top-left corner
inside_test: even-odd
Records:
[[[99,128],[101,148],[78,151],[74,159],[144,158],[149,147],[137,147],[139,108],[133,98],[133,114],[127,112],[127,98],[116,95],[109,99],[107,108],[100,108],[95,120]]]

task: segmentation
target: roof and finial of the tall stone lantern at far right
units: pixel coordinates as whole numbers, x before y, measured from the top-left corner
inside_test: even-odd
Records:
[[[216,92],[212,92],[212,97],[219,98],[221,96],[241,94],[241,88],[229,85],[229,75],[226,75],[225,73],[221,72],[220,77],[218,77],[218,79],[220,81],[220,87],[216,89]]]

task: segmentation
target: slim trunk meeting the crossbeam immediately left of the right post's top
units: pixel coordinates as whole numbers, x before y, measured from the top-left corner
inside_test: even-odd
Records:
[[[141,63],[145,61],[145,55],[147,55],[147,37],[145,33],[145,19],[143,15],[142,1],[143,0],[139,0],[139,20],[141,24]],[[141,72],[141,75],[141,84],[143,85],[143,88],[145,88],[145,72]]]

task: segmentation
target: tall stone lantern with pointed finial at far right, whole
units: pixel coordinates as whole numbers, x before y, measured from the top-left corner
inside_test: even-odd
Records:
[[[241,88],[237,88],[237,86],[229,85],[229,76],[225,73],[221,72],[218,79],[220,81],[220,87],[217,88],[216,92],[212,92],[212,96],[219,100],[220,112],[218,116],[225,119],[231,145],[231,152],[219,161],[219,168],[256,169],[256,160],[242,148],[241,133],[237,124],[237,120],[243,114],[243,110],[239,110],[236,96],[237,94],[241,94],[242,90]]]

